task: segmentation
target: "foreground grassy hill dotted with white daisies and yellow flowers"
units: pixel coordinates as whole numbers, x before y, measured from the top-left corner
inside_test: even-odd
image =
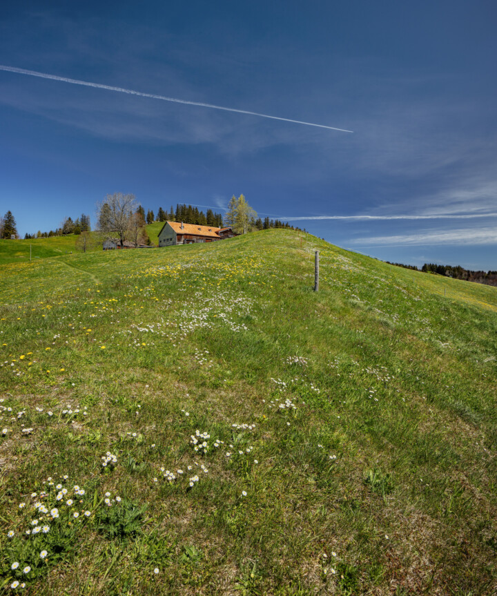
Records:
[[[494,593],[495,288],[268,230],[0,305],[6,591]]]

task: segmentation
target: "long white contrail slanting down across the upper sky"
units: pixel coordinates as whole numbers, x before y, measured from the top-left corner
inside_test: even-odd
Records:
[[[79,79],[68,79],[67,77],[58,77],[57,75],[48,75],[47,73],[38,73],[36,70],[26,70],[25,68],[16,68],[15,66],[3,66],[0,64],[0,70],[6,70],[8,73],[17,73],[18,75],[30,75],[31,77],[40,77],[41,79],[51,79],[52,81],[61,81],[73,85],[83,85],[84,87],[95,87],[97,89],[106,89],[108,91],[118,91],[119,93],[128,93],[128,95],[139,95],[139,97],[150,97],[150,99],[162,99],[163,102],[173,102],[175,104],[186,104],[188,106],[198,106],[200,108],[212,108],[213,110],[224,110],[225,112],[235,112],[237,114],[247,114],[250,116],[259,116],[260,118],[270,118],[271,120],[282,120],[282,122],[292,122],[293,124],[305,124],[305,126],[317,126],[318,128],[327,128],[329,131],[340,131],[341,133],[352,133],[345,128],[335,128],[335,126],[326,126],[325,124],[314,124],[313,122],[302,122],[302,120],[292,120],[291,118],[282,118],[279,116],[269,116],[259,112],[249,110],[238,110],[237,108],[226,108],[224,106],[215,106],[214,104],[205,104],[204,102],[190,102],[188,99],[177,99],[175,97],[166,97],[166,95],[155,95],[155,93],[142,93],[133,89],[124,89],[122,87],[111,87],[100,83],[90,81],[80,81]]]

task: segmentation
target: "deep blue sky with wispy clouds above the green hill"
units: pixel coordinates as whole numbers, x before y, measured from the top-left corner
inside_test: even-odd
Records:
[[[493,1],[2,11],[3,66],[353,131],[0,70],[0,212],[19,233],[95,220],[107,193],[155,212],[244,193],[262,216],[383,260],[497,269]]]

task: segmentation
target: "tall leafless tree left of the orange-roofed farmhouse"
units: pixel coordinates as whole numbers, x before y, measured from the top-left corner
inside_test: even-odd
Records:
[[[137,206],[135,195],[123,195],[123,193],[107,195],[97,205],[99,232],[108,240],[117,238],[122,249],[129,233],[131,216]]]

